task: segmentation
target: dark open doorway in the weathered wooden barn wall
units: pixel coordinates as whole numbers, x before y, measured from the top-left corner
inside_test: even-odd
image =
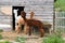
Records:
[[[12,17],[13,17],[13,30],[15,30],[15,15],[14,15],[14,12],[13,10],[17,10],[18,9],[18,12],[17,12],[17,15],[21,15],[21,11],[24,11],[24,8],[25,6],[12,6]]]

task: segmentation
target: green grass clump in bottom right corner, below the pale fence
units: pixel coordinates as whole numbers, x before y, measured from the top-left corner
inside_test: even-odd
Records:
[[[56,33],[47,37],[47,39],[43,39],[42,43],[65,43],[65,41],[62,38],[62,33],[58,30]]]

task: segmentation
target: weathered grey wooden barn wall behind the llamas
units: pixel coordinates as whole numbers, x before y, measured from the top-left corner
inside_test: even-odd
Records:
[[[29,12],[34,11],[35,12],[35,17],[36,19],[39,19],[41,22],[48,22],[52,25],[52,30],[53,30],[53,2],[54,0],[2,0],[0,1],[0,24],[3,25],[10,25],[10,27],[5,27],[8,30],[12,31],[13,30],[13,6],[25,6],[24,11],[27,13],[27,17],[29,17]],[[2,12],[9,9],[10,13]],[[4,17],[5,16],[5,17]],[[1,22],[2,20],[2,22]],[[3,27],[1,27],[2,29]],[[3,28],[4,30],[4,28]]]

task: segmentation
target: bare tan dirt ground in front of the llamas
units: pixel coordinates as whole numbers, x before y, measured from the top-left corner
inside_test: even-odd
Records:
[[[26,43],[41,43],[42,38],[39,38],[39,35],[28,35],[28,34],[24,34],[24,33],[20,33],[17,34],[16,32],[12,31],[12,32],[1,32],[3,40],[9,40],[9,41],[15,41],[16,37],[25,37],[27,38]]]

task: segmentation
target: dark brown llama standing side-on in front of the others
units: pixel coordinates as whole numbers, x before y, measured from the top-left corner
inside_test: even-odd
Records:
[[[27,19],[26,13],[24,11],[21,12],[21,16],[25,20],[25,25],[27,26],[26,32],[28,32],[29,35],[31,35],[31,27],[38,27],[38,29],[40,31],[40,37],[44,35],[43,23],[41,23],[40,20],[37,20],[37,19]]]

